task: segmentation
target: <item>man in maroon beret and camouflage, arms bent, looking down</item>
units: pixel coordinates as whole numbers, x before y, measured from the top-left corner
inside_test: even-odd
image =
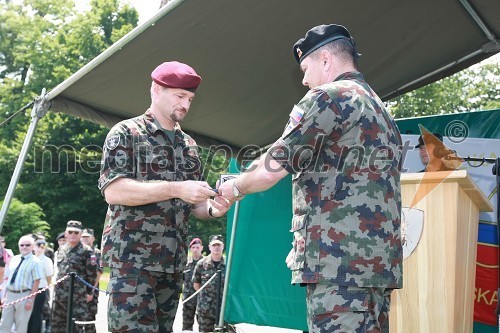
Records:
[[[109,207],[102,262],[110,267],[112,332],[172,331],[189,215],[220,217],[230,207],[203,180],[196,142],[179,125],[201,77],[172,61],[151,78],[150,108],[116,124],[103,148],[99,189]]]

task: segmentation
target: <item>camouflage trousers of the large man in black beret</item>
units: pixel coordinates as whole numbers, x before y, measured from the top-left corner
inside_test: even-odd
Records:
[[[388,333],[392,289],[307,285],[309,333]]]

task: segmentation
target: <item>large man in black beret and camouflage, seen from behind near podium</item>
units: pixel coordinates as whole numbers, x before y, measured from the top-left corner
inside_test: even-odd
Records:
[[[309,332],[389,332],[390,294],[402,287],[401,136],[357,69],[340,25],[293,46],[309,91],[282,136],[248,172],[221,185],[240,200],[292,174],[292,283],[307,286]]]

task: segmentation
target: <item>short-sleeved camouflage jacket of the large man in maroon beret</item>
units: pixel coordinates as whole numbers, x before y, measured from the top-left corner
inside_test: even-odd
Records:
[[[150,110],[122,121],[106,138],[99,189],[104,191],[121,177],[142,182],[203,180],[196,143],[179,126],[172,143]],[[134,207],[109,205],[102,238],[103,265],[182,272],[191,207],[177,198]]]

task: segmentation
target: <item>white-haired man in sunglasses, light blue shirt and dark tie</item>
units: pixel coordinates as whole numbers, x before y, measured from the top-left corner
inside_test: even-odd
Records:
[[[5,272],[6,295],[3,304],[21,300],[38,291],[40,279],[44,276],[40,260],[33,255],[35,240],[31,235],[19,239],[20,254],[14,256]],[[26,333],[28,321],[33,311],[35,296],[28,297],[2,310],[0,332],[10,333],[12,325],[16,325],[16,332]]]

